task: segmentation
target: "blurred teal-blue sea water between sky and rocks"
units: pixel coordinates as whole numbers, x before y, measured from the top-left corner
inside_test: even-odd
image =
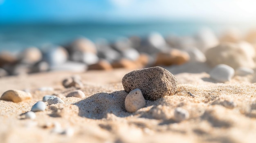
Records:
[[[203,27],[211,28],[217,35],[220,35],[229,27],[236,27],[247,32],[252,28],[252,24],[173,21],[0,25],[0,51],[18,52],[29,46],[41,48],[47,44],[65,45],[79,37],[87,37],[94,42],[101,38],[113,42],[119,37],[139,36],[143,38],[151,32],[159,32],[163,36],[192,36]]]

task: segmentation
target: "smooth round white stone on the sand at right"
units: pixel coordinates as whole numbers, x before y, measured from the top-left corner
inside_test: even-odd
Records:
[[[215,66],[210,72],[211,78],[218,82],[230,81],[234,74],[235,70],[225,64]]]

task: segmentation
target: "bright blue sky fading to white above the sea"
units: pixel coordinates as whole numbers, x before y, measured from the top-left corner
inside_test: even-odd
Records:
[[[0,23],[256,20],[256,0],[0,0]]]

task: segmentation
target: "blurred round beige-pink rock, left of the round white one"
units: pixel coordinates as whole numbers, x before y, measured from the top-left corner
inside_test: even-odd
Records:
[[[20,55],[20,62],[24,64],[35,64],[42,59],[41,51],[36,47],[26,48]]]

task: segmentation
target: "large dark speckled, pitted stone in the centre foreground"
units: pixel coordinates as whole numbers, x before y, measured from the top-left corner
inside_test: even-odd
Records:
[[[126,92],[139,88],[144,98],[152,101],[173,95],[177,90],[177,79],[159,66],[133,70],[124,75],[122,84]]]

